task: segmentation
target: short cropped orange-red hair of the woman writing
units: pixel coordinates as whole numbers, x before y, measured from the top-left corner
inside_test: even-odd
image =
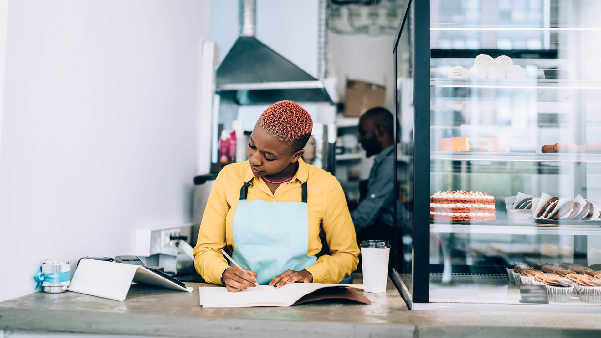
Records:
[[[265,109],[259,117],[264,131],[286,143],[293,153],[307,145],[313,130],[313,120],[298,103],[279,101]]]

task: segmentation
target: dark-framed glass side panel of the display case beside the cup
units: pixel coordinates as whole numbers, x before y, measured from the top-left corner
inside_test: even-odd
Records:
[[[429,278],[429,204],[430,139],[429,111],[429,17],[427,1],[407,0],[394,45],[395,114],[400,122],[397,132],[398,182],[397,237],[401,245],[392,277],[409,306],[428,298]],[[425,14],[425,15],[424,15]],[[425,132],[419,132],[425,131]],[[421,203],[418,203],[421,202]],[[419,244],[419,245],[417,245]]]

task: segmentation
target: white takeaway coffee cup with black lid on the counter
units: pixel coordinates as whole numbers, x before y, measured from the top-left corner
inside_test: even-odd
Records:
[[[361,260],[363,267],[363,284],[367,292],[386,292],[388,281],[388,257],[390,244],[388,241],[362,241]]]

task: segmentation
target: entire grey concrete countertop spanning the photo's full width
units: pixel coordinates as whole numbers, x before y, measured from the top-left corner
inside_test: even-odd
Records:
[[[361,277],[355,283],[361,283]],[[599,315],[409,311],[388,281],[371,306],[320,301],[292,307],[203,309],[194,292],[132,285],[123,302],[66,292],[0,303],[0,330],[171,337],[601,337]]]

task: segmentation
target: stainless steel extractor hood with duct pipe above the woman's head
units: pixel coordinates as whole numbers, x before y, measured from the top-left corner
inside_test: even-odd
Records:
[[[239,0],[240,37],[216,73],[216,91],[240,105],[279,100],[332,103],[323,82],[255,38],[256,1]]]

